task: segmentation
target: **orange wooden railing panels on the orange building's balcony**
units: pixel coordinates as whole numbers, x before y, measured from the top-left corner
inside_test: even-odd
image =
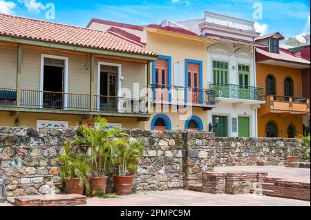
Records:
[[[268,95],[268,101],[270,103],[270,110],[310,112],[310,99]]]

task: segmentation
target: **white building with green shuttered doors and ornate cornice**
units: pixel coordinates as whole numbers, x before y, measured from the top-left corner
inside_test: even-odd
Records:
[[[203,19],[178,25],[214,38],[207,46],[207,83],[214,89],[216,108],[208,112],[218,137],[257,137],[257,109],[265,103],[263,88],[256,87],[255,47],[260,34],[254,22],[205,12]],[[219,123],[216,125],[216,119]]]

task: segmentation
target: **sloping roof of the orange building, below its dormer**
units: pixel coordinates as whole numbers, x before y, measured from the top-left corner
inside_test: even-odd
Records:
[[[268,52],[267,50],[261,50],[259,48],[256,48],[256,52],[258,52],[259,54],[263,54],[265,57],[269,57],[270,59],[277,59],[280,61],[291,61],[294,63],[302,63],[310,65],[310,61],[302,59],[300,57],[295,57],[292,54],[290,54],[290,51],[286,52],[285,49],[283,50],[280,49],[280,53],[274,53]]]

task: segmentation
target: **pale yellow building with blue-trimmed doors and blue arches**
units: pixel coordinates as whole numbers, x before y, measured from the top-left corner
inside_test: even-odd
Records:
[[[151,118],[146,129],[208,130],[207,111],[215,108],[207,80],[207,45],[214,40],[169,21],[147,27],[92,19],[88,28],[130,39],[158,54],[151,68]]]

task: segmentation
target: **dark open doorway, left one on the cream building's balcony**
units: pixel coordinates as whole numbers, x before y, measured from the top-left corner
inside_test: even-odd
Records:
[[[66,61],[52,57],[43,59],[43,79],[41,87],[43,90],[43,108],[64,108],[65,103],[65,69]]]

